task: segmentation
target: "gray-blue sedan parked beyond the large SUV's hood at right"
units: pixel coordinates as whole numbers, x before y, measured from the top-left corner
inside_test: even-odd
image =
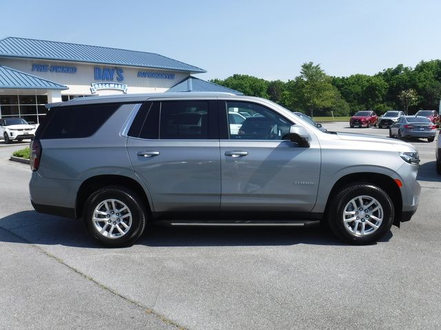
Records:
[[[389,128],[389,137],[422,137],[433,142],[436,135],[436,125],[426,117],[405,115]]]

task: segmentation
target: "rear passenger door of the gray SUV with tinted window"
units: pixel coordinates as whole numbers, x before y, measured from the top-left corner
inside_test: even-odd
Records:
[[[219,209],[216,100],[146,102],[127,135],[155,212]]]

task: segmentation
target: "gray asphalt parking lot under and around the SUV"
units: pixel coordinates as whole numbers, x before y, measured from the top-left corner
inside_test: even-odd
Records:
[[[29,167],[8,161],[23,146],[0,142],[0,329],[440,329],[436,140],[409,142],[420,206],[377,244],[322,228],[150,228],[125,249],[34,212]]]

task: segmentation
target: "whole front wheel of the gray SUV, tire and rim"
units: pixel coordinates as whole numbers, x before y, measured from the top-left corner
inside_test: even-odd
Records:
[[[393,203],[384,190],[368,183],[342,188],[331,201],[329,227],[347,243],[366,244],[391,228]]]

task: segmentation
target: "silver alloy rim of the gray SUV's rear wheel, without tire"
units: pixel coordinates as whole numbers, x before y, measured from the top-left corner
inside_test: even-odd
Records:
[[[108,239],[119,239],[132,226],[132,212],[118,199],[101,201],[92,215],[96,230]]]

